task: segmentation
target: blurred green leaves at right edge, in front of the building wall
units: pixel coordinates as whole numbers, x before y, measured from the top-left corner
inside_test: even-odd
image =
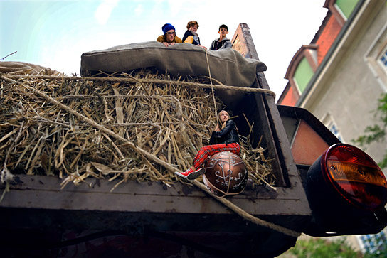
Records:
[[[378,99],[378,107],[375,112],[375,117],[381,124],[375,124],[373,126],[366,127],[364,130],[365,135],[359,136],[354,142],[360,146],[366,146],[374,141],[383,142],[386,140],[387,134],[387,93],[383,94]],[[387,151],[383,156],[383,160],[378,163],[381,168],[387,168]]]

